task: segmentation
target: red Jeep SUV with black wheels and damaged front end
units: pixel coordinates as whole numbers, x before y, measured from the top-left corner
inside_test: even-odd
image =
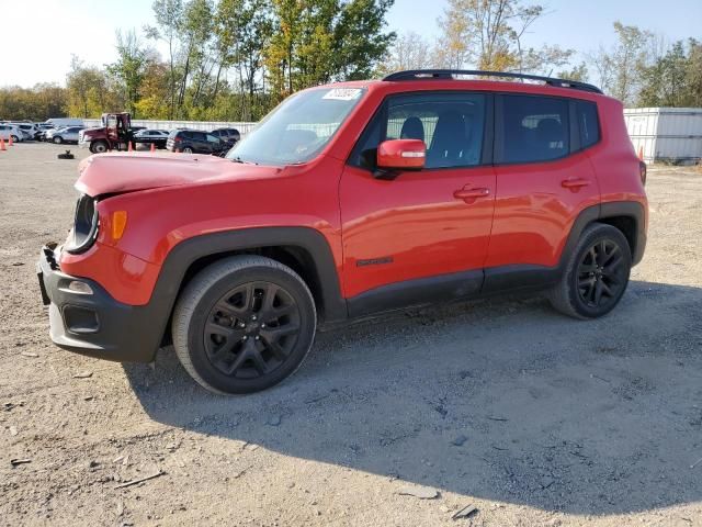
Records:
[[[73,227],[38,262],[50,336],[117,361],[172,341],[203,386],[247,393],[350,317],[528,289],[595,318],[642,259],[645,175],[622,104],[590,85],[419,70],[310,88],[226,158],[83,160]]]

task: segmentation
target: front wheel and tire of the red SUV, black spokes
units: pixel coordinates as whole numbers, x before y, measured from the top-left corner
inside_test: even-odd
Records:
[[[173,348],[207,390],[245,394],[292,375],[312,348],[315,301],[291,268],[260,256],[200,271],[173,310]]]

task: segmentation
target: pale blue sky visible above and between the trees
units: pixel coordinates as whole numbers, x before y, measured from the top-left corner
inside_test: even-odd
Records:
[[[526,2],[529,3],[529,2]],[[615,20],[666,36],[702,40],[702,0],[543,0],[550,14],[537,21],[528,45],[557,44],[579,53],[614,42]],[[154,25],[149,0],[10,0],[0,13],[0,86],[65,83],[71,55],[102,66],[115,59],[115,30]],[[430,40],[445,0],[395,0],[388,26]]]

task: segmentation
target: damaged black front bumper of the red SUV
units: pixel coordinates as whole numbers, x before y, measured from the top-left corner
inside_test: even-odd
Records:
[[[77,354],[120,362],[154,360],[162,336],[158,330],[162,326],[152,323],[148,306],[123,304],[94,280],[65,274],[58,268],[56,255],[53,247],[44,246],[36,262],[54,344]],[[73,281],[87,284],[92,293],[69,289]]]

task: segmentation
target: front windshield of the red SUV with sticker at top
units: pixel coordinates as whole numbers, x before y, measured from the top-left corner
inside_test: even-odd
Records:
[[[296,93],[269,113],[227,158],[262,165],[308,161],[329,143],[364,92],[320,88]]]

